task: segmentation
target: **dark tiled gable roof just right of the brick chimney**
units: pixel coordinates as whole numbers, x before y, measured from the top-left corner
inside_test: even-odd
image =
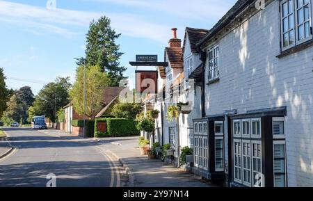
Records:
[[[195,53],[197,51],[197,43],[209,32],[207,29],[195,29],[191,27],[186,27],[186,33],[188,34],[188,39],[190,42],[191,51]],[[186,42],[186,35],[184,39],[184,45]],[[184,47],[183,47],[184,49]]]

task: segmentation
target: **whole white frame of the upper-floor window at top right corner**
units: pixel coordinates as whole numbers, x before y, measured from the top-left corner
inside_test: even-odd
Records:
[[[302,40],[298,40],[298,0],[291,0],[291,4],[293,6],[293,10],[291,13],[289,13],[289,15],[287,15],[287,17],[289,17],[290,15],[293,15],[293,20],[292,22],[294,22],[294,29],[288,29],[288,31],[284,32],[284,29],[283,29],[283,4],[284,3],[288,3],[289,0],[282,0],[280,1],[280,40],[281,40],[281,49],[282,51],[285,51],[287,49],[290,49],[292,47],[295,47],[297,45],[300,45],[301,43],[303,42],[307,42],[308,40],[312,40],[312,33],[311,33],[311,30],[312,30],[312,3],[311,3],[311,0],[309,0],[309,14],[310,14],[310,19],[308,21],[304,21],[302,23],[302,25],[304,26],[304,24],[306,22],[309,22],[309,36],[307,38],[303,38]],[[289,6],[288,6],[289,7]],[[302,7],[303,8],[303,7]],[[289,20],[288,20],[289,21]],[[300,24],[301,25],[301,24]],[[286,47],[284,47],[284,33],[289,33],[289,31],[291,30],[294,30],[294,43],[291,44],[291,45],[288,45]]]

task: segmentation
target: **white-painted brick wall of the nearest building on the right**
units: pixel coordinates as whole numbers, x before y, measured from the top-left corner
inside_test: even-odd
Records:
[[[311,4],[310,1],[310,13]],[[280,6],[280,1],[272,1],[264,10],[259,10],[218,39],[220,80],[205,86],[205,110],[207,114],[214,115],[232,109],[246,113],[286,106],[284,136],[288,186],[313,186],[313,47],[277,57],[284,50],[281,48]],[[216,42],[204,50],[214,46]],[[205,79],[208,83],[207,69]],[[240,120],[236,127],[237,131],[240,129],[237,136],[250,135],[252,138],[251,125]],[[243,127],[250,128],[249,134],[242,134]],[[257,124],[253,128],[257,129]],[[257,135],[253,138],[258,139]],[[242,156],[241,142],[236,143],[234,148],[237,150],[234,151]],[[258,159],[257,156],[251,157]],[[237,165],[236,170],[241,172],[242,164]],[[252,171],[251,182],[253,174],[255,172]],[[243,175],[237,176],[242,181]]]

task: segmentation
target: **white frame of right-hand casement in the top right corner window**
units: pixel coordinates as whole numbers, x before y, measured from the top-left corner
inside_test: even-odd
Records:
[[[302,24],[298,24],[298,10],[300,10],[300,9],[298,9],[298,5],[297,5],[297,3],[298,3],[298,1],[299,0],[294,0],[294,13],[295,13],[295,22],[296,22],[296,24],[295,24],[295,29],[296,29],[296,42],[297,42],[297,45],[299,45],[299,44],[301,44],[301,43],[303,43],[303,42],[306,42],[306,41],[308,41],[308,40],[312,40],[312,33],[311,33],[311,29],[312,29],[312,8],[311,8],[311,0],[309,0],[309,3],[308,3],[308,5],[309,5],[309,14],[310,14],[310,18],[309,18],[309,20],[308,21],[304,21]],[[300,0],[300,1],[303,1],[303,0]],[[307,5],[307,4],[305,4],[305,5]],[[302,8],[304,8],[304,5],[303,5],[303,7]],[[304,12],[304,11],[303,11]],[[303,19],[304,20],[304,19]],[[307,22],[309,22],[309,36],[307,37],[307,38],[303,38],[303,39],[301,39],[301,40],[299,40],[298,39],[298,26],[301,26],[301,25],[305,25],[305,23],[307,23]],[[305,29],[305,27],[304,27],[304,29]]]

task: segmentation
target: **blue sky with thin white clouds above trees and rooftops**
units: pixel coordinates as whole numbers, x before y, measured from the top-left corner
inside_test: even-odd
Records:
[[[134,80],[129,61],[136,54],[158,54],[168,45],[177,27],[183,39],[186,26],[210,29],[236,0],[0,0],[0,67],[13,89],[31,86],[36,94],[58,76],[74,81],[74,58],[84,56],[85,35],[92,19],[111,18],[118,40],[121,65]]]

